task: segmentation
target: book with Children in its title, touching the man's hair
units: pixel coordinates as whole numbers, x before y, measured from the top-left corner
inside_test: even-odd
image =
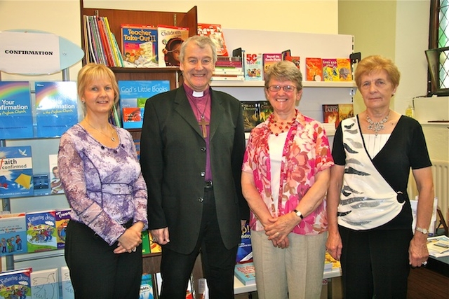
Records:
[[[157,47],[159,67],[179,67],[181,43],[189,38],[189,28],[159,25]]]

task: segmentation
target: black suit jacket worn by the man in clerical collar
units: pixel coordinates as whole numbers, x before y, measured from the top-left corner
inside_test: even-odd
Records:
[[[240,181],[243,114],[241,103],[231,95],[210,90],[210,96],[210,164],[217,220],[222,240],[231,249],[240,242],[240,220],[249,216]],[[206,141],[183,87],[147,100],[140,164],[148,187],[149,229],[168,226],[166,246],[191,253],[201,224]]]

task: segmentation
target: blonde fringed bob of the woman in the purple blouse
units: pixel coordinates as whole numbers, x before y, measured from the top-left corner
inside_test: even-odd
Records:
[[[119,85],[117,84],[114,72],[111,71],[109,67],[106,67],[105,64],[89,63],[81,68],[78,73],[77,81],[78,98],[81,100],[88,84],[101,79],[111,81],[112,90],[114,90],[114,104],[117,104],[117,102],[119,102]],[[86,106],[82,105],[82,107],[83,111],[86,113]]]

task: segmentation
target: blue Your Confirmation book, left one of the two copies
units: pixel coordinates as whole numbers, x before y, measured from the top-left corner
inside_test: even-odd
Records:
[[[33,108],[26,81],[0,81],[0,139],[33,138]]]

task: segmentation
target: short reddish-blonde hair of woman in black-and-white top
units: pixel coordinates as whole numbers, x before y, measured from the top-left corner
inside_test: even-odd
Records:
[[[389,58],[380,55],[371,55],[363,58],[358,62],[354,78],[356,80],[357,88],[360,90],[362,76],[370,74],[373,71],[387,71],[389,81],[396,88],[399,85],[399,80],[401,79],[401,72],[399,71],[396,64]]]

